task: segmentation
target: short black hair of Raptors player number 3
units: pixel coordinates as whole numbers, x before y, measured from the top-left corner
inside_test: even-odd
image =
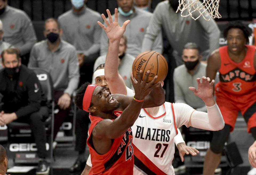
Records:
[[[241,29],[243,31],[243,35],[246,38],[246,42],[249,43],[249,36],[251,36],[252,30],[247,25],[243,24],[242,21],[231,21],[227,24],[226,29],[223,31],[223,36],[227,39],[227,34],[230,29]]]

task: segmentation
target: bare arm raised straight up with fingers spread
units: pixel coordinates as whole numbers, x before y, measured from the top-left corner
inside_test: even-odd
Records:
[[[109,38],[109,48],[107,51],[106,62],[105,62],[105,77],[109,82],[109,89],[112,94],[119,93],[126,95],[125,82],[118,72],[118,51],[119,43],[125,32],[125,27],[130,22],[127,20],[123,23],[123,26],[118,25],[118,11],[115,9],[115,19],[113,21],[110,11],[107,9],[109,21],[102,14],[102,18],[105,21],[107,27],[102,23],[98,24],[105,30],[107,37]]]

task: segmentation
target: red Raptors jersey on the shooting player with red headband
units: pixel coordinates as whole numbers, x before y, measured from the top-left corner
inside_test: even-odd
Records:
[[[119,117],[122,111],[114,111],[115,115]],[[122,136],[113,139],[110,150],[105,154],[98,154],[92,145],[91,133],[95,125],[103,120],[101,117],[89,115],[91,125],[89,128],[89,137],[87,145],[91,154],[92,168],[89,175],[94,174],[133,174],[133,147],[132,147],[132,132],[129,128]]]

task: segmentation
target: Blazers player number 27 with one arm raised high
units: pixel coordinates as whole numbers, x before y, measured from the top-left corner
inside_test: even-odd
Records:
[[[117,13],[117,10],[115,10],[115,13]],[[118,73],[116,62],[119,42],[125,29],[118,25],[117,15],[115,15],[115,20],[112,21],[109,10],[107,10],[107,14],[109,15],[109,22],[105,16],[102,16],[107,27],[101,25],[109,38],[105,77],[112,93],[132,96],[134,92],[126,88],[122,77]],[[125,26],[125,23],[123,26]],[[143,174],[174,174],[171,165],[174,154],[174,137],[178,133],[177,128],[182,125],[213,131],[223,128],[224,121],[213,98],[214,80],[210,82],[210,78],[202,77],[202,82],[198,78],[197,83],[197,89],[194,87],[190,87],[190,89],[195,95],[203,99],[208,113],[195,111],[186,104],[172,104],[169,102],[165,102],[160,107],[141,109],[141,117],[132,126],[134,156],[136,157],[134,167],[137,169],[134,170],[134,174],[142,174],[142,172]],[[164,121],[170,122],[167,124],[163,123]],[[156,136],[157,133],[161,133],[162,139]],[[153,164],[149,162],[153,162]]]

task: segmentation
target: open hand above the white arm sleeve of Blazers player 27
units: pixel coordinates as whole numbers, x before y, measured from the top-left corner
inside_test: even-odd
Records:
[[[196,96],[201,99],[209,99],[213,97],[213,84],[214,80],[210,82],[209,77],[202,77],[202,82],[200,82],[200,78],[197,78],[197,89],[194,87],[189,87],[190,90],[194,92]]]

